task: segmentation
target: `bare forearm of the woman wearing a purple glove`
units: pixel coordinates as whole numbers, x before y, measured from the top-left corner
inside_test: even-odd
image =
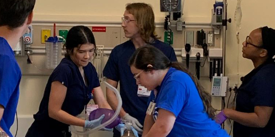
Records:
[[[254,113],[244,113],[232,109],[225,109],[226,117],[242,125],[249,127],[264,128],[272,114],[273,107],[255,106]]]

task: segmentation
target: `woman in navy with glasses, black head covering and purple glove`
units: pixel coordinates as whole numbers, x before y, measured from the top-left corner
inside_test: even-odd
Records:
[[[253,62],[254,69],[241,78],[236,110],[223,112],[234,121],[234,137],[274,137],[275,30],[267,26],[253,30],[243,42],[242,52]]]

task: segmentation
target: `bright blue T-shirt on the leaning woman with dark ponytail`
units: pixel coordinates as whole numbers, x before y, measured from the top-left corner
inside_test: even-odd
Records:
[[[176,116],[167,137],[229,137],[204,111],[196,85],[187,73],[169,68],[156,90],[156,97],[154,92],[149,97],[149,102],[154,100],[156,103],[153,119],[157,119],[159,108]]]

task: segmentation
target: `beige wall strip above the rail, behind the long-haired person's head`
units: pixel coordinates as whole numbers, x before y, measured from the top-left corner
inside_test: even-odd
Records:
[[[132,2],[146,2],[152,5],[156,22],[163,22],[165,13],[160,12],[159,0],[37,0],[34,19],[60,20],[58,17],[63,17],[61,20],[66,21],[120,21],[125,5]],[[210,7],[212,8],[214,3],[214,0],[185,0],[185,21],[210,22]]]

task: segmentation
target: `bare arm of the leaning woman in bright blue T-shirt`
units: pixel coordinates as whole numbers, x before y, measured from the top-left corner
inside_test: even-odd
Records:
[[[146,135],[144,135],[144,137],[167,136],[171,132],[174,126],[175,120],[176,120],[176,117],[172,112],[164,109],[159,109],[158,119],[153,124],[149,132]]]

